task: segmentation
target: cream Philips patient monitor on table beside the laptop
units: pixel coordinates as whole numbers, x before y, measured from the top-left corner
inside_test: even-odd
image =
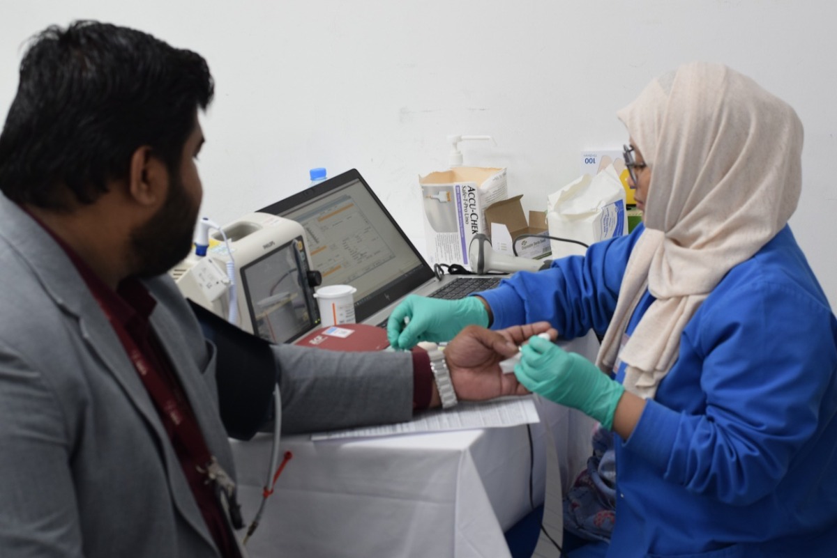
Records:
[[[309,267],[299,223],[250,213],[221,230],[208,235],[205,256],[193,251],[170,272],[184,297],[276,343],[320,323],[313,296],[320,274]]]

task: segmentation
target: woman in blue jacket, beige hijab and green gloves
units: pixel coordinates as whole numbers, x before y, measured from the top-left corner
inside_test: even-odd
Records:
[[[707,63],[655,79],[619,119],[644,226],[477,297],[408,299],[390,340],[538,320],[604,333],[595,364],[533,337],[515,369],[614,432],[610,543],[572,556],[831,556],[837,320],[787,225],[802,124]]]

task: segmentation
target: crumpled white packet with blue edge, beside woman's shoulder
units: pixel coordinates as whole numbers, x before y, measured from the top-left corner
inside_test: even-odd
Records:
[[[549,236],[568,238],[591,245],[628,234],[625,191],[614,165],[598,175],[583,175],[547,197]],[[552,259],[584,254],[583,246],[550,241]]]

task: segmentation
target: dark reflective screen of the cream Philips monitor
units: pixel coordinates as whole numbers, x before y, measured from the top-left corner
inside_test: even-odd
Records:
[[[241,268],[253,332],[275,343],[295,340],[319,318],[301,283],[306,281],[306,274],[300,273],[305,266],[295,244],[289,242]]]

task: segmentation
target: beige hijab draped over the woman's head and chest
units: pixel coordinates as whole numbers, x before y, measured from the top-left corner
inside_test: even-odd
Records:
[[[628,365],[625,388],[654,398],[701,302],[796,209],[802,124],[752,79],[709,63],[656,79],[618,114],[651,182],[646,231],[628,261],[597,364],[608,372],[619,358]],[[620,351],[646,288],[656,300]]]

